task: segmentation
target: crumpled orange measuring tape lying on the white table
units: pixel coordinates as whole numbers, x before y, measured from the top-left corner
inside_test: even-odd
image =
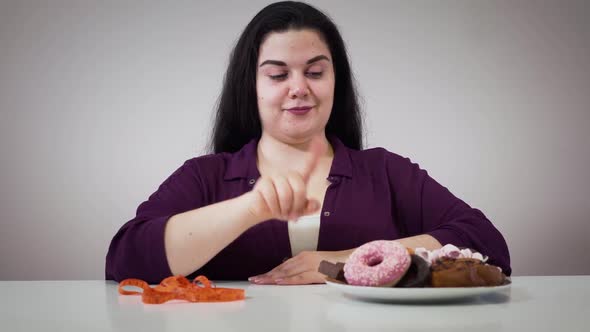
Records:
[[[202,284],[199,285],[199,283]],[[135,286],[143,292],[124,290],[125,286]],[[186,300],[190,302],[226,302],[244,299],[244,290],[237,288],[219,288],[211,286],[205,276],[196,277],[190,282],[183,276],[168,277],[155,286],[140,279],[125,279],[119,283],[119,294],[141,295],[143,303],[160,304],[170,300]]]

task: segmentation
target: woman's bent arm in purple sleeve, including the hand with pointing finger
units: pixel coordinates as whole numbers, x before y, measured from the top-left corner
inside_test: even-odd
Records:
[[[308,199],[306,190],[320,156],[319,149],[313,152],[303,173],[262,176],[251,191],[212,204],[206,198],[212,189],[207,190],[198,160],[185,163],[115,235],[106,278],[160,282],[172,274],[188,275],[260,222],[316,212],[320,203]]]

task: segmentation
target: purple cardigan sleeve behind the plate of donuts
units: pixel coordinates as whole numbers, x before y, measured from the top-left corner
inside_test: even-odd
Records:
[[[455,197],[408,158],[389,152],[387,168],[394,213],[408,236],[429,234],[442,245],[472,248],[511,274],[506,241],[480,210]]]

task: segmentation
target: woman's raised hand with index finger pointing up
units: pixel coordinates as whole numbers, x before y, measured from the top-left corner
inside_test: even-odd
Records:
[[[261,176],[250,195],[248,211],[262,222],[268,219],[294,220],[316,212],[320,202],[307,197],[307,184],[322,156],[320,141],[311,142],[310,155],[302,172]]]

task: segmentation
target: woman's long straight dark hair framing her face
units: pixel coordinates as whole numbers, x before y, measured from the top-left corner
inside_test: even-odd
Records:
[[[231,52],[211,135],[209,149],[214,153],[235,152],[262,135],[256,98],[258,51],[270,32],[289,29],[315,30],[328,45],[336,81],[326,135],[338,137],[350,148],[363,148],[357,92],[338,28],[328,16],[306,3],[283,1],[270,4],[256,14]]]

